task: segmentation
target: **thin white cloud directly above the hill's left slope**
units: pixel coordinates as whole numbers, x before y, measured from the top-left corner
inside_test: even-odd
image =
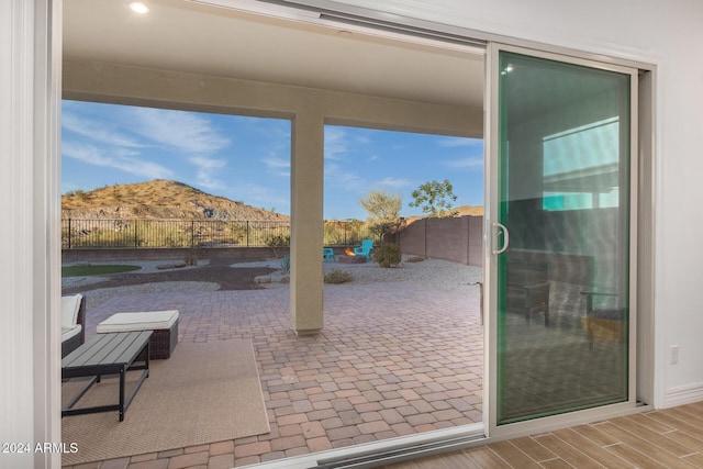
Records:
[[[89,165],[120,169],[150,179],[171,179],[174,177],[174,172],[170,169],[156,163],[135,158],[138,153],[129,149],[103,150],[93,145],[64,141],[62,143],[62,153],[64,156]]]

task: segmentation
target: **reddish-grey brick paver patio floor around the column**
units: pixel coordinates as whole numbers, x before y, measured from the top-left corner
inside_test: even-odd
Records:
[[[288,289],[118,297],[120,311],[180,311],[179,339],[252,339],[271,432],[76,466],[233,467],[481,421],[483,333],[476,295],[413,282],[325,286],[325,327],[298,337]]]

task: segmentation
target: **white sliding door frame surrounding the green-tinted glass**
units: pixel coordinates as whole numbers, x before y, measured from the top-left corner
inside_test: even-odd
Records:
[[[599,60],[591,54],[574,53],[573,51],[556,47],[535,47],[534,44],[510,44],[489,42],[486,55],[486,90],[484,90],[484,227],[483,227],[483,309],[488,312],[484,325],[484,387],[483,387],[483,423],[490,439],[503,439],[522,435],[546,432],[554,428],[574,424],[593,422],[615,415],[624,415],[650,409],[652,404],[651,380],[654,379],[651,350],[654,347],[651,320],[654,299],[640,292],[654,290],[654,216],[639,220],[638,214],[654,206],[645,202],[640,206],[640,199],[651,197],[654,190],[651,176],[654,175],[651,142],[646,142],[643,134],[651,135],[652,129],[652,77],[651,70],[643,70],[633,64],[620,64],[617,60]],[[547,51],[549,48],[549,51]],[[617,71],[631,75],[631,216],[629,216],[629,347],[628,347],[628,399],[626,402],[596,406],[588,410],[568,412],[559,415],[534,418],[525,422],[504,425],[496,424],[498,416],[498,249],[499,233],[494,222],[499,221],[499,53],[512,52],[533,57],[551,59],[566,64],[587,66],[595,69]],[[645,76],[646,78],[643,78]],[[639,83],[644,83],[645,91],[640,91]],[[643,132],[644,131],[644,132]],[[643,148],[640,147],[643,145]],[[644,183],[639,180],[643,178]],[[638,239],[644,236],[645,244]],[[501,239],[502,236],[501,236]],[[649,256],[646,270],[638,270],[638,258]],[[641,313],[639,312],[641,304]],[[641,324],[638,315],[645,316]],[[639,354],[643,354],[640,357]]]

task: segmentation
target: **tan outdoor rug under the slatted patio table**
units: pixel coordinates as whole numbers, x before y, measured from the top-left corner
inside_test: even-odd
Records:
[[[141,371],[127,373],[125,393]],[[64,404],[85,381],[62,386]],[[76,409],[116,403],[118,378],[105,378]],[[63,465],[120,458],[268,433],[269,423],[250,340],[179,343],[169,359],[152,360],[149,377],[127,409],[62,418],[62,440],[78,451]]]

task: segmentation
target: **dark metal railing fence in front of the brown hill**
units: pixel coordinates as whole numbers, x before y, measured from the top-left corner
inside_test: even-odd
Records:
[[[359,244],[370,237],[365,223],[325,222],[324,244]],[[284,246],[290,222],[219,220],[62,220],[62,247],[260,247]]]

